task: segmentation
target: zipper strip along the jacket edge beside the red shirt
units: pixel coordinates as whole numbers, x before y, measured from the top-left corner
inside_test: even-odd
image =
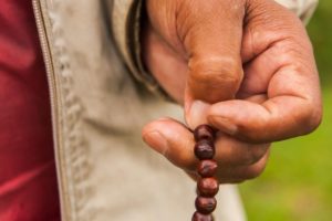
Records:
[[[56,84],[55,84],[55,73],[54,73],[54,66],[51,59],[51,48],[49,38],[46,34],[46,24],[45,20],[43,18],[43,7],[44,2],[41,2],[43,0],[32,0],[33,6],[33,12],[37,23],[37,29],[40,38],[40,44],[43,53],[44,64],[45,64],[45,71],[48,76],[48,84],[49,84],[49,94],[50,94],[50,105],[51,105],[51,117],[52,117],[52,133],[53,133],[53,149],[54,149],[54,158],[55,158],[55,168],[56,168],[56,179],[58,179],[58,189],[59,189],[59,197],[60,197],[60,213],[61,213],[61,220],[68,221],[70,220],[70,213],[69,213],[69,203],[66,203],[65,197],[65,177],[62,171],[61,162],[61,134],[59,133],[59,129],[61,128],[59,123],[59,113],[61,109],[61,104],[58,103],[58,93],[56,93]]]

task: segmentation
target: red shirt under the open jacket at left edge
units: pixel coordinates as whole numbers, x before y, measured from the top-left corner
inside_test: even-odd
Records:
[[[0,220],[60,220],[46,74],[29,0],[0,1]]]

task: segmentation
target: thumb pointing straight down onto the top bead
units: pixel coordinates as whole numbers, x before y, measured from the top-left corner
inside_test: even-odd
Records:
[[[211,0],[181,8],[187,10],[179,13],[178,22],[189,55],[185,117],[190,128],[206,123],[206,105],[234,98],[240,86],[243,4],[242,0]]]

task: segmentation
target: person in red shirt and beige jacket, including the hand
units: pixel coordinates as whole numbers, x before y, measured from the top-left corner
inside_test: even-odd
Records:
[[[278,2],[303,21],[315,6]],[[144,125],[194,179],[190,129],[215,126],[236,183],[320,123],[310,41],[274,1],[32,3],[0,3],[0,220],[189,220],[195,183]],[[246,220],[235,186],[218,203]]]

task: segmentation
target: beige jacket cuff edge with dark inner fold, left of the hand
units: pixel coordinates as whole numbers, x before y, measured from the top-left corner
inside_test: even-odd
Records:
[[[114,0],[108,1],[111,31],[123,60],[134,77],[144,84],[155,95],[173,101],[160,87],[155,77],[149,74],[141,61],[141,19],[143,1]]]

